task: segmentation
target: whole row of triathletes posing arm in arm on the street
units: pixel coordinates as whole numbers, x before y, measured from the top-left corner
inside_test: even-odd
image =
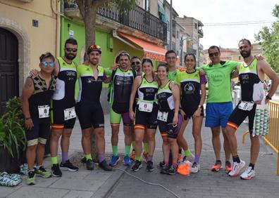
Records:
[[[229,176],[238,176],[245,162],[237,155],[235,131],[246,117],[249,117],[251,133],[251,159],[247,169],[240,176],[251,179],[255,176],[254,164],[259,154],[259,137],[252,136],[253,119],[257,104],[268,103],[279,83],[279,77],[262,58],[254,58],[249,40],[242,39],[239,51],[244,62],[220,60],[218,46],[209,48],[211,63],[197,67],[194,54],[184,58],[185,70],[176,67],[175,51],[166,52],[166,63],[159,63],[154,71],[153,61],[130,58],[123,51],[116,58],[116,67],[104,68],[99,65],[101,47],[92,45],[87,48],[85,62],[75,65],[77,41],[67,39],[63,57],[54,58],[45,53],[39,58],[40,70],[33,70],[25,81],[22,93],[22,108],[25,117],[27,136],[27,184],[35,184],[35,176],[49,178],[61,177],[61,169],[78,171],[68,159],[70,135],[76,117],[82,129],[82,148],[88,170],[94,169],[91,156],[91,131],[96,136],[97,159],[104,171],[112,171],[120,161],[118,154],[118,133],[120,120],[123,120],[125,135],[125,154],[123,165],[131,166],[132,171],[142,167],[142,144],[146,170],[153,171],[155,133],[159,131],[163,139],[163,161],[161,173],[173,175],[178,163],[191,161],[190,171],[200,170],[199,159],[202,152],[201,129],[206,100],[206,126],[211,128],[213,150],[216,161],[212,171],[222,169],[221,140],[222,130],[225,150],[225,171]],[[268,95],[263,95],[264,75],[271,80]],[[239,75],[242,98],[233,110],[231,78]],[[75,82],[79,89],[75,99]],[[104,112],[100,103],[102,84],[110,83],[109,102],[111,104],[111,161],[105,159]],[[209,92],[206,99],[206,83]],[[251,108],[244,108],[245,105]],[[192,118],[194,155],[190,151],[183,133]],[[51,132],[50,132],[51,126]],[[50,133],[51,171],[43,166],[44,145]],[[58,142],[61,138],[62,160],[58,164]],[[130,154],[132,145],[132,153]],[[182,157],[182,150],[185,157]],[[233,165],[230,164],[230,155]],[[35,166],[35,161],[37,166]],[[132,161],[135,161],[132,164]]]

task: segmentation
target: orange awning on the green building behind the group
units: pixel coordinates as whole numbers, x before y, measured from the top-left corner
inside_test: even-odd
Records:
[[[161,62],[165,61],[166,49],[160,46],[156,46],[154,44],[150,44],[149,42],[144,41],[142,39],[137,39],[128,34],[118,32],[118,35],[120,37],[128,39],[129,41],[132,41],[137,46],[140,46],[144,51],[144,58],[151,58],[152,60]]]

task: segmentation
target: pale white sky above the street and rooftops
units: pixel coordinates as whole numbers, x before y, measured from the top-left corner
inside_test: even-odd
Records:
[[[171,2],[171,0],[168,0]],[[204,27],[204,37],[200,44],[209,46],[237,48],[240,39],[256,42],[254,34],[262,27],[271,27],[275,18],[272,14],[278,0],[173,0],[173,8],[180,17],[197,18]],[[267,22],[268,23],[263,23]],[[250,25],[220,25],[233,22],[254,23]],[[259,23],[261,22],[261,23]],[[215,23],[215,25],[214,25]]]

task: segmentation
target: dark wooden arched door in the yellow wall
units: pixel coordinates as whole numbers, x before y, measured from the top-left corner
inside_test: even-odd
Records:
[[[6,111],[6,102],[18,96],[18,39],[0,27],[0,115]]]

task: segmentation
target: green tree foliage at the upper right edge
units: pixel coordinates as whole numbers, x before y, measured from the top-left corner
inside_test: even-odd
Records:
[[[279,19],[279,4],[275,5],[273,15]],[[255,34],[255,39],[260,42],[267,62],[275,72],[279,72],[279,21],[273,22],[271,28],[263,27]]]

